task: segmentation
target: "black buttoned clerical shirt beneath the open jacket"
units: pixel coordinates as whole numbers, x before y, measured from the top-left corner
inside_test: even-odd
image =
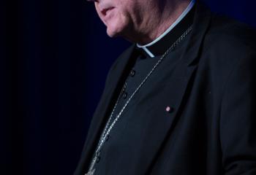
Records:
[[[129,97],[132,96],[132,93],[135,92],[135,89],[138,88],[143,79],[145,79],[148,72],[151,71],[157,61],[159,61],[159,58],[161,58],[166,50],[174,42],[176,42],[178,37],[180,37],[184,31],[187,31],[187,29],[192,25],[193,15],[194,9],[192,9],[187,16],[181,20],[181,22],[178,23],[178,25],[173,28],[172,31],[170,31],[169,34],[164,36],[161,40],[159,40],[159,42],[155,43],[151,47],[148,47],[148,50],[154,53],[154,58],[151,58],[146,52],[144,52],[143,49],[138,47],[135,48],[135,58],[131,58],[135,59],[135,62],[133,63],[132,69],[129,70],[129,74],[125,79],[124,85],[119,93],[120,95],[118,98],[118,103],[116,104],[116,109],[113,112],[113,120],[121,111],[124,104],[126,104]],[[166,76],[170,76],[170,72],[172,72],[170,70],[175,68],[176,63],[178,63],[179,58],[181,58],[182,49],[186,45],[187,38],[189,38],[189,36],[186,36],[186,38],[172,51],[172,61],[168,62],[168,70],[162,69],[162,65],[167,63],[164,59],[162,63],[157,66],[157,69],[153,72],[153,74],[151,74],[142,88],[138,90],[138,93],[136,93],[129,102],[127,108],[118,119],[118,122],[110,131],[105,144],[99,152],[97,163],[94,166],[94,168],[96,168],[95,174],[105,174],[108,172],[108,169],[113,170],[117,168],[117,161],[123,161],[124,165],[127,161],[132,161],[129,159],[129,150],[136,149],[136,144],[138,144],[134,140],[143,141],[144,139],[150,139],[147,137],[147,133],[144,132],[143,128],[141,128],[141,123],[147,123],[147,113],[145,113],[145,117],[138,118],[136,116],[135,109],[140,108],[141,101],[147,100],[147,98],[145,98],[147,89],[148,87],[152,87],[157,83],[157,76],[159,72],[166,71],[168,72]],[[165,84],[163,83],[162,85]],[[151,96],[157,96],[157,92],[151,93]],[[150,103],[148,103],[148,105],[151,110],[154,110],[155,106],[150,106]],[[113,120],[111,120],[110,123],[112,123]],[[155,120],[157,120],[157,116]],[[125,172],[120,171],[117,174],[125,174]]]

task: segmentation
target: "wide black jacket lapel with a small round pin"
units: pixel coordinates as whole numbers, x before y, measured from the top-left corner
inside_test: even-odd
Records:
[[[184,109],[183,104],[187,100],[186,96],[189,94],[189,87],[192,85],[200,55],[200,46],[203,43],[210,18],[211,13],[206,7],[203,7],[202,4],[197,4],[192,34],[189,37],[189,41],[187,41],[187,45],[182,50],[181,60],[178,61],[175,69],[169,74],[161,73],[161,70],[168,69],[168,61],[172,61],[172,52],[170,52],[165,58],[165,63],[163,63],[165,65],[161,65],[157,69],[157,77],[151,77],[154,81],[148,82],[154,87],[148,90],[148,96],[153,97],[149,98],[145,95],[145,97],[141,98],[138,106],[143,106],[140,107],[140,109],[143,109],[144,106],[147,106],[146,104],[150,103],[148,101],[152,101],[154,109],[146,109],[145,114],[140,116],[142,119],[137,119],[140,122],[134,120],[132,121],[133,124],[128,127],[132,128],[136,126],[136,123],[147,121],[145,125],[144,122],[140,127],[143,133],[147,135],[142,137],[149,137],[150,139],[143,139],[141,143],[141,139],[135,140],[138,143],[137,150],[140,151],[136,152],[135,155],[140,156],[132,163],[131,167],[135,166],[135,171],[138,174],[149,174],[152,171],[151,168],[154,167],[155,161],[158,160],[157,157],[160,155],[161,148],[164,146],[167,137],[170,136],[171,131],[173,131],[173,127]],[[170,106],[173,110],[169,114],[165,111],[167,106]],[[141,162],[143,162],[143,166]],[[136,165],[140,165],[140,167]]]

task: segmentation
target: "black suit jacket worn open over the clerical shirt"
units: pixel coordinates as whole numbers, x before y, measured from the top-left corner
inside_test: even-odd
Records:
[[[256,174],[255,41],[252,28],[197,4],[181,60],[171,74],[157,70],[138,102],[138,120],[148,121],[141,126],[147,139],[128,138],[138,149],[120,155],[117,168],[105,174]],[[75,175],[88,170],[134,47],[110,69]]]

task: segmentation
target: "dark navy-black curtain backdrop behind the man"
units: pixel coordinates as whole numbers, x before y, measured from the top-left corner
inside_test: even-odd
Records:
[[[256,26],[254,0],[205,0]],[[109,39],[82,0],[0,1],[0,174],[72,174],[111,63]]]

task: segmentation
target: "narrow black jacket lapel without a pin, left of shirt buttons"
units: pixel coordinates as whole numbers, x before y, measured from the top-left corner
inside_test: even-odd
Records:
[[[99,101],[97,109],[94,112],[94,117],[91,120],[89,133],[86,138],[86,143],[83,147],[80,163],[78,164],[77,171],[84,171],[86,173],[91,157],[97,147],[99,136],[102,133],[102,128],[105,127],[105,122],[108,120],[111,109],[116,103],[118,92],[123,84],[122,79],[127,76],[127,70],[130,69],[135,58],[135,44],[132,44],[120,57],[117,59],[120,63],[115,66],[116,70],[110,71],[108,85],[105,85],[105,90],[102,93],[102,98]],[[111,74],[112,73],[112,74]]]

